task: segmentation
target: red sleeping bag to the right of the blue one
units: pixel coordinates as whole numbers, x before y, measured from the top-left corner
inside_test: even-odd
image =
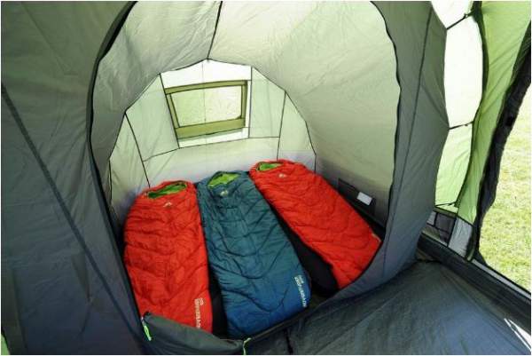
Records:
[[[331,266],[340,288],[356,280],[380,240],[324,178],[286,160],[259,162],[249,175],[301,241]]]

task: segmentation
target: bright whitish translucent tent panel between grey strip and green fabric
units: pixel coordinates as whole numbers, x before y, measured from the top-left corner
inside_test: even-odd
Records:
[[[457,3],[450,6],[454,4]],[[451,19],[446,19],[449,28],[445,43],[444,84],[449,135],[438,169],[435,204],[439,209],[452,211],[458,210],[454,204],[469,165],[472,122],[482,95],[482,39],[473,16],[463,18],[465,12],[469,12],[467,6]]]

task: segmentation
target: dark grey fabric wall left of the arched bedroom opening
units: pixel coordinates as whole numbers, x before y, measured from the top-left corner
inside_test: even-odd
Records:
[[[85,131],[92,68],[123,7],[2,4],[2,303],[11,311],[2,328],[12,352],[141,352]]]

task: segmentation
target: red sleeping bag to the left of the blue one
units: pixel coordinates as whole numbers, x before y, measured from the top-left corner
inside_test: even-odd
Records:
[[[212,331],[207,249],[196,188],[165,182],[129,210],[124,261],[141,313]]]

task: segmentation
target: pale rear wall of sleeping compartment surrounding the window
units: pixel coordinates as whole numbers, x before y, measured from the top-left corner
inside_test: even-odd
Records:
[[[198,91],[188,95],[186,103],[172,104],[165,98],[165,89],[235,80],[246,82],[244,127],[187,138],[176,134],[169,106],[192,110],[190,117],[214,107],[213,117],[218,118],[231,102],[239,106],[240,98],[231,98],[231,92],[204,98],[205,93]],[[186,113],[179,112],[177,117],[181,114],[183,119]],[[207,121],[204,118],[202,123]],[[123,223],[137,194],[162,181],[197,182],[218,170],[248,170],[254,162],[278,158],[302,162],[309,170],[316,165],[307,125],[285,91],[252,67],[213,60],[166,72],[153,80],[124,115],[110,158],[113,212]]]

